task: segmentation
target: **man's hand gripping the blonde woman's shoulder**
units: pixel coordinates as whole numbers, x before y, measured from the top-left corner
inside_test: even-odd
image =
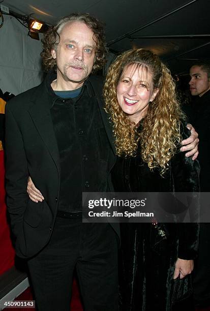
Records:
[[[191,131],[191,135],[190,137],[182,141],[183,147],[181,148],[181,151],[190,150],[185,154],[185,156],[190,157],[191,155],[193,155],[192,160],[195,160],[198,156],[198,133],[195,131],[191,124],[188,124],[187,128]]]

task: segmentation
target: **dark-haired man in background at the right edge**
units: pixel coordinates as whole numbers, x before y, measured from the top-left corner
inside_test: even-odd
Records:
[[[190,68],[193,119],[199,133],[200,191],[210,192],[210,61],[200,60]],[[209,219],[209,201],[201,195],[201,220]],[[210,305],[210,224],[200,224],[198,258],[194,269],[194,299],[200,307]]]

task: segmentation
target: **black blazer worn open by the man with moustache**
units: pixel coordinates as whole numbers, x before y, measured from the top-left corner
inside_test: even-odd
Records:
[[[110,144],[107,145],[108,172],[115,161],[115,149],[108,115],[104,110],[102,80],[92,76],[91,82]],[[59,152],[50,114],[51,100],[46,81],[16,96],[6,105],[6,191],[11,227],[16,237],[19,257],[36,255],[52,233],[60,185]],[[110,152],[111,149],[111,152]],[[42,192],[45,200],[29,199],[28,176]],[[111,184],[107,182],[107,191]],[[112,189],[110,189],[112,190]],[[117,224],[111,224],[119,235]]]

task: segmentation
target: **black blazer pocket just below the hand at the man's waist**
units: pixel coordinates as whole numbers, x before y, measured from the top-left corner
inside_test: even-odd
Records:
[[[41,214],[43,210],[43,204],[44,201],[36,203],[31,199],[28,199],[23,220],[32,228],[37,228],[42,220]]]

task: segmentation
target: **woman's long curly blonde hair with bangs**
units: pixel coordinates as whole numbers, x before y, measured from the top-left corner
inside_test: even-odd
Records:
[[[140,133],[117,102],[117,84],[125,69],[133,64],[151,73],[153,90],[159,90],[153,102],[149,102],[147,113],[141,120]],[[142,160],[150,169],[159,167],[163,175],[182,140],[180,126],[185,119],[167,67],[151,51],[129,50],[119,55],[109,67],[104,85],[104,98],[106,112],[110,114],[113,122],[117,155],[135,156],[139,142]]]

